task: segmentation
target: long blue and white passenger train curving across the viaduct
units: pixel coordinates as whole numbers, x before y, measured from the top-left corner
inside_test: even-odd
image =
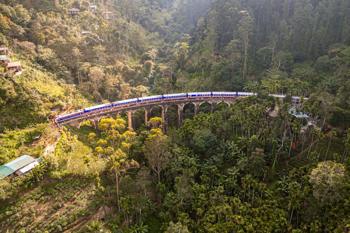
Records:
[[[152,101],[169,101],[171,99],[181,100],[181,99],[197,99],[197,98],[243,98],[246,96],[251,95],[257,95],[257,93],[252,92],[189,92],[189,93],[177,93],[177,94],[166,94],[166,95],[154,95],[154,96],[147,96],[147,97],[139,97],[134,98],[130,100],[121,100],[116,101],[112,103],[106,103],[106,104],[100,104],[84,109],[79,109],[73,112],[68,112],[59,116],[55,117],[55,122],[59,123],[62,121],[66,121],[68,119],[79,117],[80,115],[84,114],[93,114],[94,112],[103,111],[105,109],[110,109],[114,107],[122,107],[125,105],[132,105],[132,104],[138,104],[138,103],[146,103],[146,102],[152,102]],[[275,94],[269,94],[270,96],[279,97],[280,100],[283,100],[285,95],[275,95]],[[307,99],[307,98],[304,98]],[[299,102],[300,97],[299,96],[293,96],[293,102]]]

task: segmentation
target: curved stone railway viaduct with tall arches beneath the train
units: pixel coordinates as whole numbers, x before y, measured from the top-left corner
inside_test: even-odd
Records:
[[[224,99],[215,99],[215,98],[207,99],[206,98],[206,99],[185,99],[185,100],[168,100],[168,101],[163,100],[163,102],[154,101],[154,102],[147,102],[144,104],[135,104],[135,105],[131,105],[131,106],[125,106],[123,108],[117,107],[117,108],[107,109],[105,111],[96,112],[94,115],[72,119],[70,121],[66,121],[66,122],[63,122],[61,124],[62,125],[68,124],[70,126],[74,126],[74,127],[79,129],[80,125],[84,121],[90,120],[94,123],[95,129],[97,131],[99,131],[98,130],[98,123],[100,122],[102,117],[110,116],[113,119],[116,119],[120,112],[127,112],[129,127],[133,128],[135,130],[136,127],[135,127],[134,112],[138,109],[142,109],[142,108],[145,109],[145,122],[146,122],[146,126],[147,126],[147,122],[151,118],[152,108],[159,106],[162,108],[162,119],[163,119],[162,131],[163,131],[163,133],[166,133],[166,129],[168,126],[168,108],[170,105],[177,105],[178,106],[177,125],[180,127],[182,125],[182,121],[183,121],[183,108],[186,104],[188,104],[188,103],[194,104],[194,106],[195,106],[194,116],[196,116],[199,113],[199,107],[201,106],[201,104],[210,103],[211,104],[211,113],[213,113],[215,111],[216,105],[221,103],[221,102],[225,102],[230,107],[232,104],[236,103],[236,100],[234,98],[227,98],[227,99],[226,98],[224,98]]]

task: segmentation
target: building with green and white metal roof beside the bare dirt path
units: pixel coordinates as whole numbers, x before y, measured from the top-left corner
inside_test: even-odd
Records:
[[[5,177],[13,178],[16,175],[23,175],[39,165],[38,161],[30,155],[22,155],[21,157],[12,160],[0,166],[0,179]]]

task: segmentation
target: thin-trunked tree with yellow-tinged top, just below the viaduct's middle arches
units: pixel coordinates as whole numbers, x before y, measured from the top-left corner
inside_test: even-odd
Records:
[[[149,165],[158,174],[158,183],[160,183],[160,174],[169,162],[168,136],[163,135],[159,128],[151,129],[142,150],[149,161]]]

